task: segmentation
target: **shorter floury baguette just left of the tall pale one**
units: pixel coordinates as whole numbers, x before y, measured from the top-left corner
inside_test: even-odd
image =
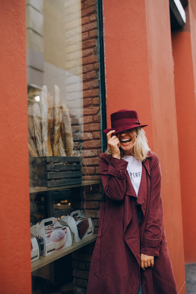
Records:
[[[33,125],[35,130],[36,144],[39,156],[43,156],[41,138],[41,110],[38,103],[33,104]]]

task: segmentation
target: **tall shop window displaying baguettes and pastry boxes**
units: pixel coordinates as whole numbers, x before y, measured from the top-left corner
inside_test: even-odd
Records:
[[[32,261],[32,293],[86,291],[102,201],[99,7],[96,0],[26,0],[32,232],[43,219],[78,210],[94,223],[78,247]]]

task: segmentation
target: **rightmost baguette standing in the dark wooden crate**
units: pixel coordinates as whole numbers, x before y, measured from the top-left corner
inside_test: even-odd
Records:
[[[64,128],[64,137],[65,137],[65,151],[67,156],[72,156],[73,154],[73,137],[71,129],[71,120],[69,116],[69,111],[66,105],[61,105],[61,114],[63,118],[63,128]]]

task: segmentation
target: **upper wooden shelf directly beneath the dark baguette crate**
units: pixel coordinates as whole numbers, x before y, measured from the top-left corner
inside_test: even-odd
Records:
[[[79,187],[79,186],[94,185],[99,183],[100,182],[98,180],[92,180],[92,181],[83,180],[82,183],[78,183],[78,184],[62,185],[62,186],[54,186],[54,187],[30,187],[29,190],[30,190],[30,193],[36,193],[36,192],[43,192],[43,191],[61,190],[61,189]]]

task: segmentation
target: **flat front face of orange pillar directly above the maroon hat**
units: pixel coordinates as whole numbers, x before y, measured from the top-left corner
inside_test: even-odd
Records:
[[[153,148],[144,1],[103,1],[107,122],[116,110],[137,109]]]

